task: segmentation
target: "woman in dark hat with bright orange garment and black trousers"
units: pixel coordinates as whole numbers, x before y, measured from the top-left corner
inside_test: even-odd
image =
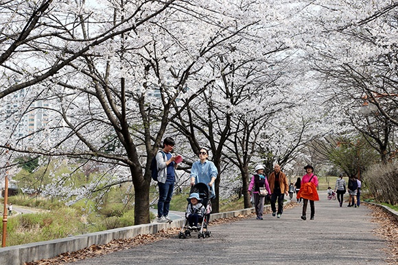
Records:
[[[311,220],[314,220],[315,216],[315,203],[314,201],[319,201],[318,192],[316,187],[318,187],[318,177],[314,175],[314,168],[311,165],[304,167],[307,174],[305,174],[301,180],[301,188],[297,197],[303,198],[303,215],[301,219],[307,220],[307,204],[311,207]]]

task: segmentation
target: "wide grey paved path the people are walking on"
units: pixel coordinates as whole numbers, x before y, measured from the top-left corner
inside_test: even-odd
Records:
[[[299,205],[281,219],[210,224],[211,238],[175,236],[73,264],[386,264],[386,241],[372,232],[371,210],[338,207],[326,197],[320,192],[315,220],[301,220]]]

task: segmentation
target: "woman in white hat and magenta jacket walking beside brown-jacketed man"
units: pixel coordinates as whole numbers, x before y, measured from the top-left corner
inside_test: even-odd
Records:
[[[271,191],[270,186],[268,185],[267,177],[264,174],[264,166],[257,165],[255,167],[255,172],[256,173],[253,175],[248,186],[248,194],[253,194],[257,219],[263,220],[264,200],[266,197],[261,196],[260,188],[266,188],[268,194],[271,194]]]

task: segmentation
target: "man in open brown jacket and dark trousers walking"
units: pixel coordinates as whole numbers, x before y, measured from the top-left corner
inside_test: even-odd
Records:
[[[281,166],[275,164],[274,172],[268,177],[268,184],[270,184],[271,190],[271,209],[272,216],[277,215],[281,218],[283,212],[283,200],[285,199],[285,194],[288,195],[289,185],[288,179],[286,179],[285,173],[281,171]],[[275,203],[278,200],[278,212]]]

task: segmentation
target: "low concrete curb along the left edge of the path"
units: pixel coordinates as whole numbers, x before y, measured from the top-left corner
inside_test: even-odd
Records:
[[[264,210],[270,208],[270,205],[264,205]],[[237,210],[232,212],[221,212],[210,215],[210,220],[220,218],[230,218],[239,215],[246,215],[255,212],[255,208]],[[93,244],[107,244],[108,242],[119,238],[133,238],[140,234],[156,234],[162,229],[170,227],[182,227],[183,219],[173,220],[172,223],[150,223],[145,225],[134,225],[110,229],[69,238],[60,238],[30,244],[21,244],[12,247],[0,248],[0,265],[19,265],[25,262],[34,262],[56,257],[62,253],[78,251],[85,249]]]

